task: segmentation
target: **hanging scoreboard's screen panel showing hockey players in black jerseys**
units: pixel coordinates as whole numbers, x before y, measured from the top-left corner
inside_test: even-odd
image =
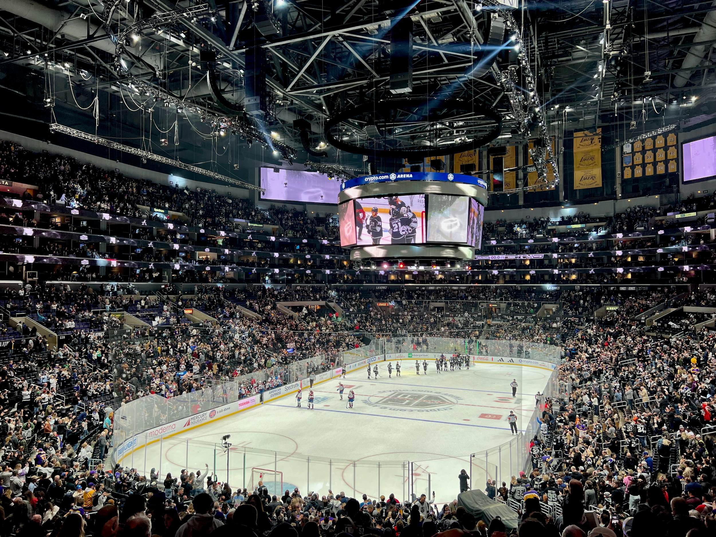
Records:
[[[425,195],[400,194],[355,200],[356,243],[425,243]]]

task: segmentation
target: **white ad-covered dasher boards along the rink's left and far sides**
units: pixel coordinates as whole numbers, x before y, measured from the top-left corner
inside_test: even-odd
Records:
[[[348,364],[345,369],[346,372],[353,372],[357,371],[358,369],[362,369],[367,366],[372,366],[372,364],[375,364],[377,362],[391,362],[396,361],[400,362],[402,360],[405,361],[411,361],[411,360],[430,360],[435,361],[436,359],[440,358],[440,355],[444,353],[438,353],[438,352],[399,352],[399,353],[388,353],[388,354],[379,354],[377,356],[372,356],[369,358],[364,358],[362,360],[359,360],[358,362],[353,362],[352,364]],[[409,357],[410,355],[410,357]],[[446,358],[449,358],[448,354],[445,354]],[[536,359],[529,359],[529,358],[512,358],[512,357],[489,357],[489,356],[477,356],[475,354],[470,354],[470,360],[474,364],[502,364],[502,365],[517,365],[521,367],[536,367],[538,369],[545,369],[546,371],[553,372],[554,369],[556,369],[557,364],[552,364],[551,362],[543,362],[542,360],[536,360]],[[331,379],[340,377],[343,374],[343,368],[338,367],[337,369],[332,369],[330,371],[326,371],[321,374],[316,375],[316,379],[314,380],[314,386],[316,384],[321,384],[322,382],[327,382]],[[137,452],[138,450],[141,450],[142,448],[147,448],[148,446],[155,444],[156,442],[160,442],[163,438],[169,438],[176,435],[183,434],[184,432],[196,429],[198,427],[203,427],[204,425],[208,425],[209,423],[217,422],[218,420],[223,420],[226,417],[230,417],[233,415],[238,414],[239,412],[244,412],[246,410],[249,410],[253,407],[258,407],[263,405],[263,403],[273,401],[276,399],[279,399],[281,397],[286,397],[286,395],[291,395],[293,393],[298,392],[299,387],[303,389],[304,387],[309,387],[310,381],[308,378],[301,379],[296,382],[291,382],[289,384],[284,384],[283,386],[276,387],[272,390],[268,390],[266,392],[263,392],[263,402],[261,402],[260,395],[251,395],[251,397],[244,397],[241,400],[234,401],[231,403],[227,403],[226,405],[221,405],[219,407],[213,408],[211,410],[205,410],[203,412],[198,412],[197,414],[191,415],[189,417],[183,417],[180,420],[175,420],[173,422],[166,423],[165,425],[160,425],[159,427],[153,427],[150,430],[146,430],[143,432],[140,432],[137,435],[134,435],[129,440],[125,440],[125,442],[122,442],[122,444],[117,447],[116,450],[116,463],[121,463],[122,460],[127,458],[129,455],[132,455],[132,453]],[[138,445],[140,440],[143,442],[141,445]]]

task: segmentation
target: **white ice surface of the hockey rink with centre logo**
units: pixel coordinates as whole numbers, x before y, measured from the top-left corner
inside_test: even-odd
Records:
[[[255,486],[262,477],[272,494],[283,493],[283,483],[284,490],[298,487],[302,495],[312,491],[320,497],[330,489],[358,498],[363,493],[369,498],[395,493],[402,500],[410,492],[427,494],[430,475],[430,489],[442,507],[457,497],[463,468],[473,473],[471,488],[484,490],[488,477],[509,482],[510,450],[487,461],[484,455],[475,458],[472,468],[470,453],[511,440],[510,410],[518,416],[518,429],[524,430],[535,407],[534,395],[544,390],[550,372],[511,364],[470,364],[469,370],[448,368],[438,374],[435,362],[429,361],[427,375],[422,367],[417,375],[415,362],[404,360],[402,376],[396,377],[392,363],[390,379],[387,362],[380,362],[377,379],[369,380],[366,369],[357,369],[345,379],[316,384],[315,410],[308,409],[306,387],[301,408],[296,407],[295,394],[289,394],[149,445],[123,464],[145,467],[147,473],[156,468],[163,480],[166,473],[176,477],[183,468],[204,472],[208,463],[223,483],[227,452],[221,439],[231,435],[232,488]],[[513,378],[519,384],[515,398]],[[343,400],[339,382],[345,387]],[[347,408],[350,390],[356,394],[352,409]],[[281,474],[254,468],[276,468]]]

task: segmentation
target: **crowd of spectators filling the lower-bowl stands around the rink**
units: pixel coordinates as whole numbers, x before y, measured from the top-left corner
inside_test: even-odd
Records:
[[[312,312],[294,319],[275,308],[276,301],[291,299],[336,299],[342,304],[361,298],[361,291],[343,291],[261,286],[193,296],[176,293],[182,305],[222,309],[227,302],[241,303],[262,319],[228,316],[221,325],[205,328],[156,327],[147,329],[140,341],[84,340],[77,342],[75,352],[59,349],[47,363],[11,362],[0,373],[4,394],[19,392],[16,410],[8,412],[8,401],[2,415],[7,439],[3,460],[8,463],[2,486],[9,496],[1,506],[7,533],[179,537],[200,531],[216,536],[243,532],[334,537],[347,529],[356,535],[360,528],[363,535],[389,531],[392,536],[428,537],[459,528],[499,537],[506,531],[499,522],[485,526],[456,502],[440,507],[430,498],[361,500],[344,493],[318,498],[299,490],[272,497],[260,484],[256,490],[219,485],[207,470],[195,475],[185,471],[162,481],[155,473],[138,475],[97,462],[111,441],[112,405],[142,395],[200,391],[210,377],[263,372],[249,375],[245,384],[242,377],[243,397],[284,382],[282,374],[293,354],[289,349],[306,356],[349,348],[346,334],[333,330],[344,326],[333,314]],[[442,335],[432,329],[425,311],[412,309],[424,301],[405,298],[406,289],[391,291],[392,296],[373,292],[395,299],[397,305],[347,311],[346,323],[362,322],[390,334],[400,334],[402,326],[415,326],[415,332],[423,327],[422,336],[400,342],[416,349],[427,348],[430,337]],[[437,294],[469,299],[470,292]],[[531,439],[533,471],[513,476],[510,483],[488,480],[484,487],[488,496],[518,509],[519,535],[611,536],[611,531],[637,537],[667,528],[668,537],[681,537],[691,528],[697,531],[692,536],[712,531],[715,445],[707,431],[716,422],[716,337],[702,333],[659,339],[645,334],[644,326],[627,314],[648,305],[642,300],[664,299],[671,292],[638,299],[601,294],[599,303],[616,301],[623,306],[621,315],[608,323],[582,321],[564,345],[558,392],[539,402],[543,430]],[[567,298],[576,302],[583,296]],[[553,332],[560,328],[558,321],[542,319],[484,329],[492,330],[494,339],[549,344],[557,342]],[[474,333],[478,336],[480,329]],[[117,398],[99,402],[103,395]],[[92,443],[85,445],[87,438]],[[596,513],[591,523],[590,513]],[[594,533],[590,524],[603,529]]]

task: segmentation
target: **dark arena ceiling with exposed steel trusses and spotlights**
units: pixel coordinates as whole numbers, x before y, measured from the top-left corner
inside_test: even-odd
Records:
[[[413,95],[462,100],[475,110],[495,107],[504,117],[500,141],[523,137],[514,128],[516,117],[503,84],[504,74],[521,59],[511,47],[493,53],[484,46],[495,12],[488,1],[483,6],[465,0],[211,0],[197,16],[160,20],[163,14],[201,5],[168,0],[0,0],[0,70],[21,66],[42,74],[29,93],[37,101],[32,105],[49,98],[44,97],[48,87],[52,105],[58,100],[72,110],[92,102],[94,92],[111,94],[127,106],[121,117],[126,132],[139,130],[142,124],[137,117],[142,112],[132,116],[130,110],[140,105],[155,108],[152,95],[136,92],[140,81],[198,112],[182,120],[194,131],[210,132],[211,125],[199,125],[199,116],[205,112],[211,122],[214,115],[227,112],[211,95],[200,53],[216,51],[221,95],[238,104],[244,96],[246,51],[258,46],[265,49],[268,61],[271,99],[266,132],[275,132],[281,142],[300,149],[293,122],[304,119],[310,125],[311,147],[320,147],[327,117],[389,95],[388,34],[395,21],[410,16]],[[273,19],[266,10],[273,12]],[[126,33],[152,16],[159,16],[157,24]],[[536,0],[513,10],[513,16],[522,57],[536,77],[535,90],[551,132],[619,125],[627,133],[711,117],[716,2]],[[115,41],[125,34],[120,68]],[[11,77],[2,84],[21,91]],[[155,110],[155,118],[164,113],[168,121],[175,112],[173,101],[171,110]],[[100,111],[102,120],[110,119],[103,114]],[[78,128],[84,121],[84,128],[94,129],[92,110],[76,110],[73,117]],[[354,122],[347,134],[358,130],[369,135],[368,123]],[[459,125],[448,126],[459,137]],[[327,160],[336,160],[330,148]],[[362,165],[359,156],[342,155],[339,160]]]

